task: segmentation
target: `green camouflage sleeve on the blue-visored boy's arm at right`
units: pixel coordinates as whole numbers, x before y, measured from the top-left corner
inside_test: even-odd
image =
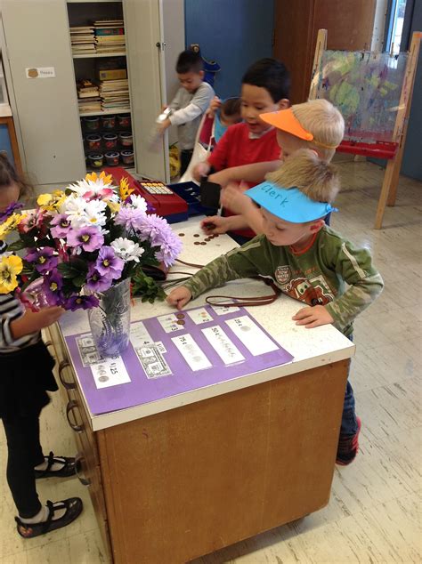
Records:
[[[345,331],[361,311],[365,310],[381,294],[384,282],[372,266],[367,249],[358,249],[351,243],[343,242],[335,264],[337,275],[350,286],[345,294],[325,307],[334,318],[334,326]]]

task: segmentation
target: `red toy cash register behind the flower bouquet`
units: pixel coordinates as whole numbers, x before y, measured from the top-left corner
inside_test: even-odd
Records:
[[[120,166],[105,168],[106,174],[111,174],[114,183],[118,184],[122,178],[126,178],[130,188],[135,194],[146,199],[150,207],[154,209],[153,214],[165,217],[167,222],[185,222],[188,219],[188,205],[186,201],[174,194],[172,189],[160,181],[137,181],[134,177]]]

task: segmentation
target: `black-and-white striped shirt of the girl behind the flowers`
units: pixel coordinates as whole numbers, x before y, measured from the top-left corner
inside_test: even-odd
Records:
[[[5,246],[0,241],[0,254],[4,251]],[[16,352],[23,347],[35,344],[41,338],[41,334],[26,334],[19,339],[14,339],[11,330],[11,323],[15,319],[19,319],[25,313],[25,307],[12,294],[0,294],[0,354]]]

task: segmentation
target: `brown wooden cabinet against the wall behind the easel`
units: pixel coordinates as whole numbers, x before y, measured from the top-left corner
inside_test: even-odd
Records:
[[[273,55],[292,77],[290,100],[306,101],[318,30],[328,49],[370,50],[376,0],[275,0]]]

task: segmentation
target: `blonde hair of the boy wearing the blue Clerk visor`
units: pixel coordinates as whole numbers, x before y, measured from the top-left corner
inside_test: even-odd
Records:
[[[265,176],[280,188],[298,188],[315,202],[332,202],[340,189],[337,169],[312,149],[298,149]]]

